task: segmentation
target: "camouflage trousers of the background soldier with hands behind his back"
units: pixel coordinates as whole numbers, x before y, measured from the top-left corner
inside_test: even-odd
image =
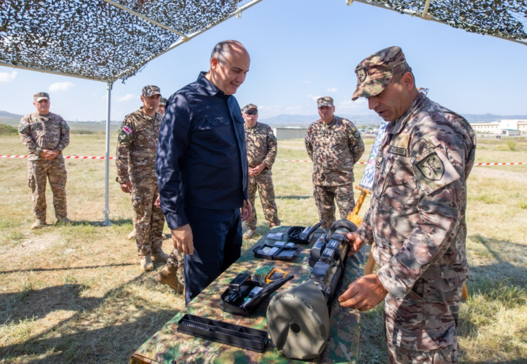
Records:
[[[355,207],[353,183],[338,186],[314,185],[313,194],[318,208],[318,217],[320,220],[327,218],[321,226],[324,229],[329,229],[335,222],[335,201],[340,211],[340,220],[347,218],[349,212]]]

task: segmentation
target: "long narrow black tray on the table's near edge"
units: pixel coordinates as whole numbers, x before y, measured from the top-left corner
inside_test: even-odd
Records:
[[[268,342],[267,331],[189,314],[178,321],[178,332],[253,352],[264,352]]]

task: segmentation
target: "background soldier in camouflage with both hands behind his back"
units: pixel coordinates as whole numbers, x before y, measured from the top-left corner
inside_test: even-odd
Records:
[[[353,165],[364,153],[364,142],[355,125],[333,115],[335,106],[330,97],[319,98],[320,119],[311,124],[305,135],[305,148],[313,161],[313,194],[322,227],[335,222],[335,202],[344,219],[355,207],[353,199]]]

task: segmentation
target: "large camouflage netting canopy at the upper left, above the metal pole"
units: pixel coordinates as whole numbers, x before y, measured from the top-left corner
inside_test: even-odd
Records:
[[[224,21],[248,2],[3,0],[0,65],[126,80],[177,41]]]

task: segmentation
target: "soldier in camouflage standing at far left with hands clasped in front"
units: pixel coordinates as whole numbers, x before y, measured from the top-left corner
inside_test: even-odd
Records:
[[[60,115],[49,112],[49,94],[33,95],[36,112],[20,121],[19,134],[27,146],[27,168],[33,192],[35,222],[31,229],[46,225],[46,179],[53,192],[53,205],[57,223],[71,223],[66,207],[66,166],[62,150],[69,144],[69,126]]]

